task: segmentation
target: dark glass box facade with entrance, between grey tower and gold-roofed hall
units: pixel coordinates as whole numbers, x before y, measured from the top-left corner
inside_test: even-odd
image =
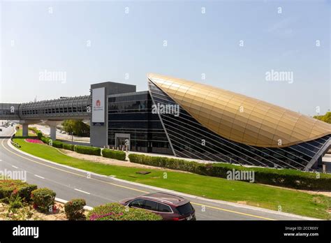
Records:
[[[108,145],[135,152],[172,154],[148,91],[108,96]]]

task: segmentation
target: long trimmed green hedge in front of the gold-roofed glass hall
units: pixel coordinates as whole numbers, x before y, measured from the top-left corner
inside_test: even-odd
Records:
[[[331,191],[331,175],[322,173],[302,172],[300,170],[290,169],[247,168],[226,163],[198,163],[183,159],[145,156],[142,154],[129,154],[128,158],[133,163],[182,170],[211,177],[227,178],[229,171],[233,170],[239,170],[240,172],[253,171],[255,183],[294,189]]]

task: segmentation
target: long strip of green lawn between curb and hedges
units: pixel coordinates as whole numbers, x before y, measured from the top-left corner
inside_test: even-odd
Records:
[[[62,154],[54,147],[25,142],[22,138],[15,138],[14,140],[21,145],[20,149],[24,152],[101,175],[116,175],[119,179],[159,186],[164,189],[171,189],[205,198],[230,202],[245,201],[247,205],[267,209],[277,210],[281,206],[283,212],[319,219],[331,219],[330,214],[327,212],[327,209],[331,209],[331,198],[327,196],[316,196],[300,191],[279,189],[261,184],[230,181],[222,178],[167,170],[148,170],[151,172],[150,174],[140,175],[135,172],[142,170],[141,168],[105,165],[75,159]],[[166,179],[163,178],[164,172],[167,174]]]

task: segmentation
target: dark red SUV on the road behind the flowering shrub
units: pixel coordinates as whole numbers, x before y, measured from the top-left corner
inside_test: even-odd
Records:
[[[163,220],[196,220],[196,210],[191,202],[181,196],[170,193],[148,193],[137,198],[121,200],[128,207],[146,209],[162,216]]]

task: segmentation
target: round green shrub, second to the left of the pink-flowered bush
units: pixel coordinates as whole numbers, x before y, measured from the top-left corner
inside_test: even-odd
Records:
[[[42,188],[32,191],[31,199],[36,209],[39,209],[41,212],[50,212],[50,209],[53,209],[56,195],[54,191]]]

